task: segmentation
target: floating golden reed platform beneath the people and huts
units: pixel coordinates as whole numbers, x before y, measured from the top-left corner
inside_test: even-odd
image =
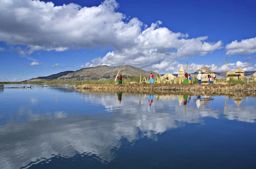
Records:
[[[133,84],[133,85],[79,85],[78,90],[88,92],[164,93],[190,95],[244,95],[255,96],[256,84],[183,85],[183,84]]]

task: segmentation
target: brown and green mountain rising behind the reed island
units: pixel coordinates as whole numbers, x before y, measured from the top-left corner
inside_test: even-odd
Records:
[[[46,77],[37,77],[28,81],[44,81],[44,80],[105,80],[115,79],[116,74],[120,70],[124,78],[140,76],[140,68],[130,65],[120,66],[96,66],[91,68],[83,68],[77,71],[65,71]],[[148,77],[150,71],[142,70],[142,77]],[[156,72],[153,72],[156,76]]]

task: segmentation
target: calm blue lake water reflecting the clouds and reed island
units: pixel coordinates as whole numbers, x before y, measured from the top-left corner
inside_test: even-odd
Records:
[[[253,97],[0,90],[0,168],[255,168]]]

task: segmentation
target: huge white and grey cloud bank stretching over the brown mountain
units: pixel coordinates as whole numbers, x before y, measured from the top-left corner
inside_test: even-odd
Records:
[[[161,27],[161,21],[147,27],[138,18],[117,12],[119,4],[115,0],[92,7],[73,3],[54,6],[52,2],[34,0],[0,3],[0,41],[25,46],[20,48],[22,55],[36,50],[113,48],[82,67],[131,64],[152,69],[155,64],[206,55],[222,46],[221,41],[208,42],[207,36],[189,39],[188,34]]]

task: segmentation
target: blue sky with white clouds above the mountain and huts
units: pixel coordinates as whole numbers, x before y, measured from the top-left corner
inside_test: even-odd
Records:
[[[0,81],[102,64],[222,71],[226,56],[229,70],[256,70],[256,1],[10,2],[0,0]]]

